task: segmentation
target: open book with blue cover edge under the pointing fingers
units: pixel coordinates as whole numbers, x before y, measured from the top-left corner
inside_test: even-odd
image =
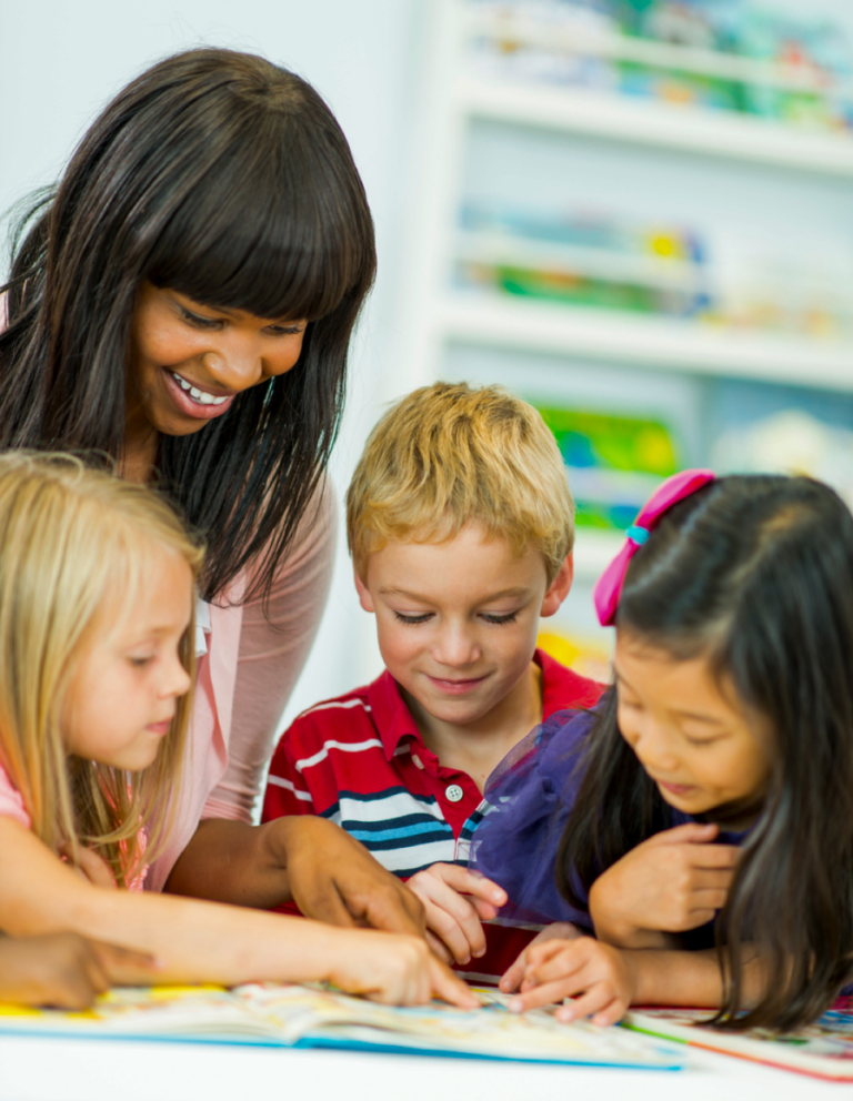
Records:
[[[117,989],[92,1010],[69,1013],[0,1006],[0,1036],[190,1040],[345,1048],[533,1062],[679,1070],[683,1049],[625,1029],[563,1024],[548,1010],[515,1016],[506,998],[478,990],[481,1009],[432,1002],[378,1006],[314,986]]]

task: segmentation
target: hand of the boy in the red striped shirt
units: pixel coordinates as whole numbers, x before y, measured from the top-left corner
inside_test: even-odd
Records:
[[[424,868],[412,876],[408,886],[423,902],[426,941],[439,959],[468,963],[472,956],[485,953],[480,921],[490,921],[505,903],[502,887],[453,863]]]

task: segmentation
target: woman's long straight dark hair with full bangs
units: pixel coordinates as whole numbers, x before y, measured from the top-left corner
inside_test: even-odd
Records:
[[[374,271],[364,189],[311,85],[229,50],[168,58],[107,107],[14,236],[0,448],[121,458],[145,280],[308,319],[291,371],[200,432],[160,437],[160,484],[208,544],[204,595],[259,555],[252,592],[267,594],[327,464]]]

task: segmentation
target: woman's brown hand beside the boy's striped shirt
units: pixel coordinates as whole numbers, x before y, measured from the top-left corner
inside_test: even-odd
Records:
[[[287,872],[293,901],[308,918],[423,937],[420,900],[354,838],[313,815],[279,818],[288,830]]]

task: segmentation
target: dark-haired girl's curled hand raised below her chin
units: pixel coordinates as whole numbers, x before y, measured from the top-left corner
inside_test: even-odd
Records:
[[[741,852],[711,844],[719,832],[713,824],[676,826],[608,868],[590,890],[598,938],[621,948],[660,948],[662,933],[712,921],[725,906]]]

